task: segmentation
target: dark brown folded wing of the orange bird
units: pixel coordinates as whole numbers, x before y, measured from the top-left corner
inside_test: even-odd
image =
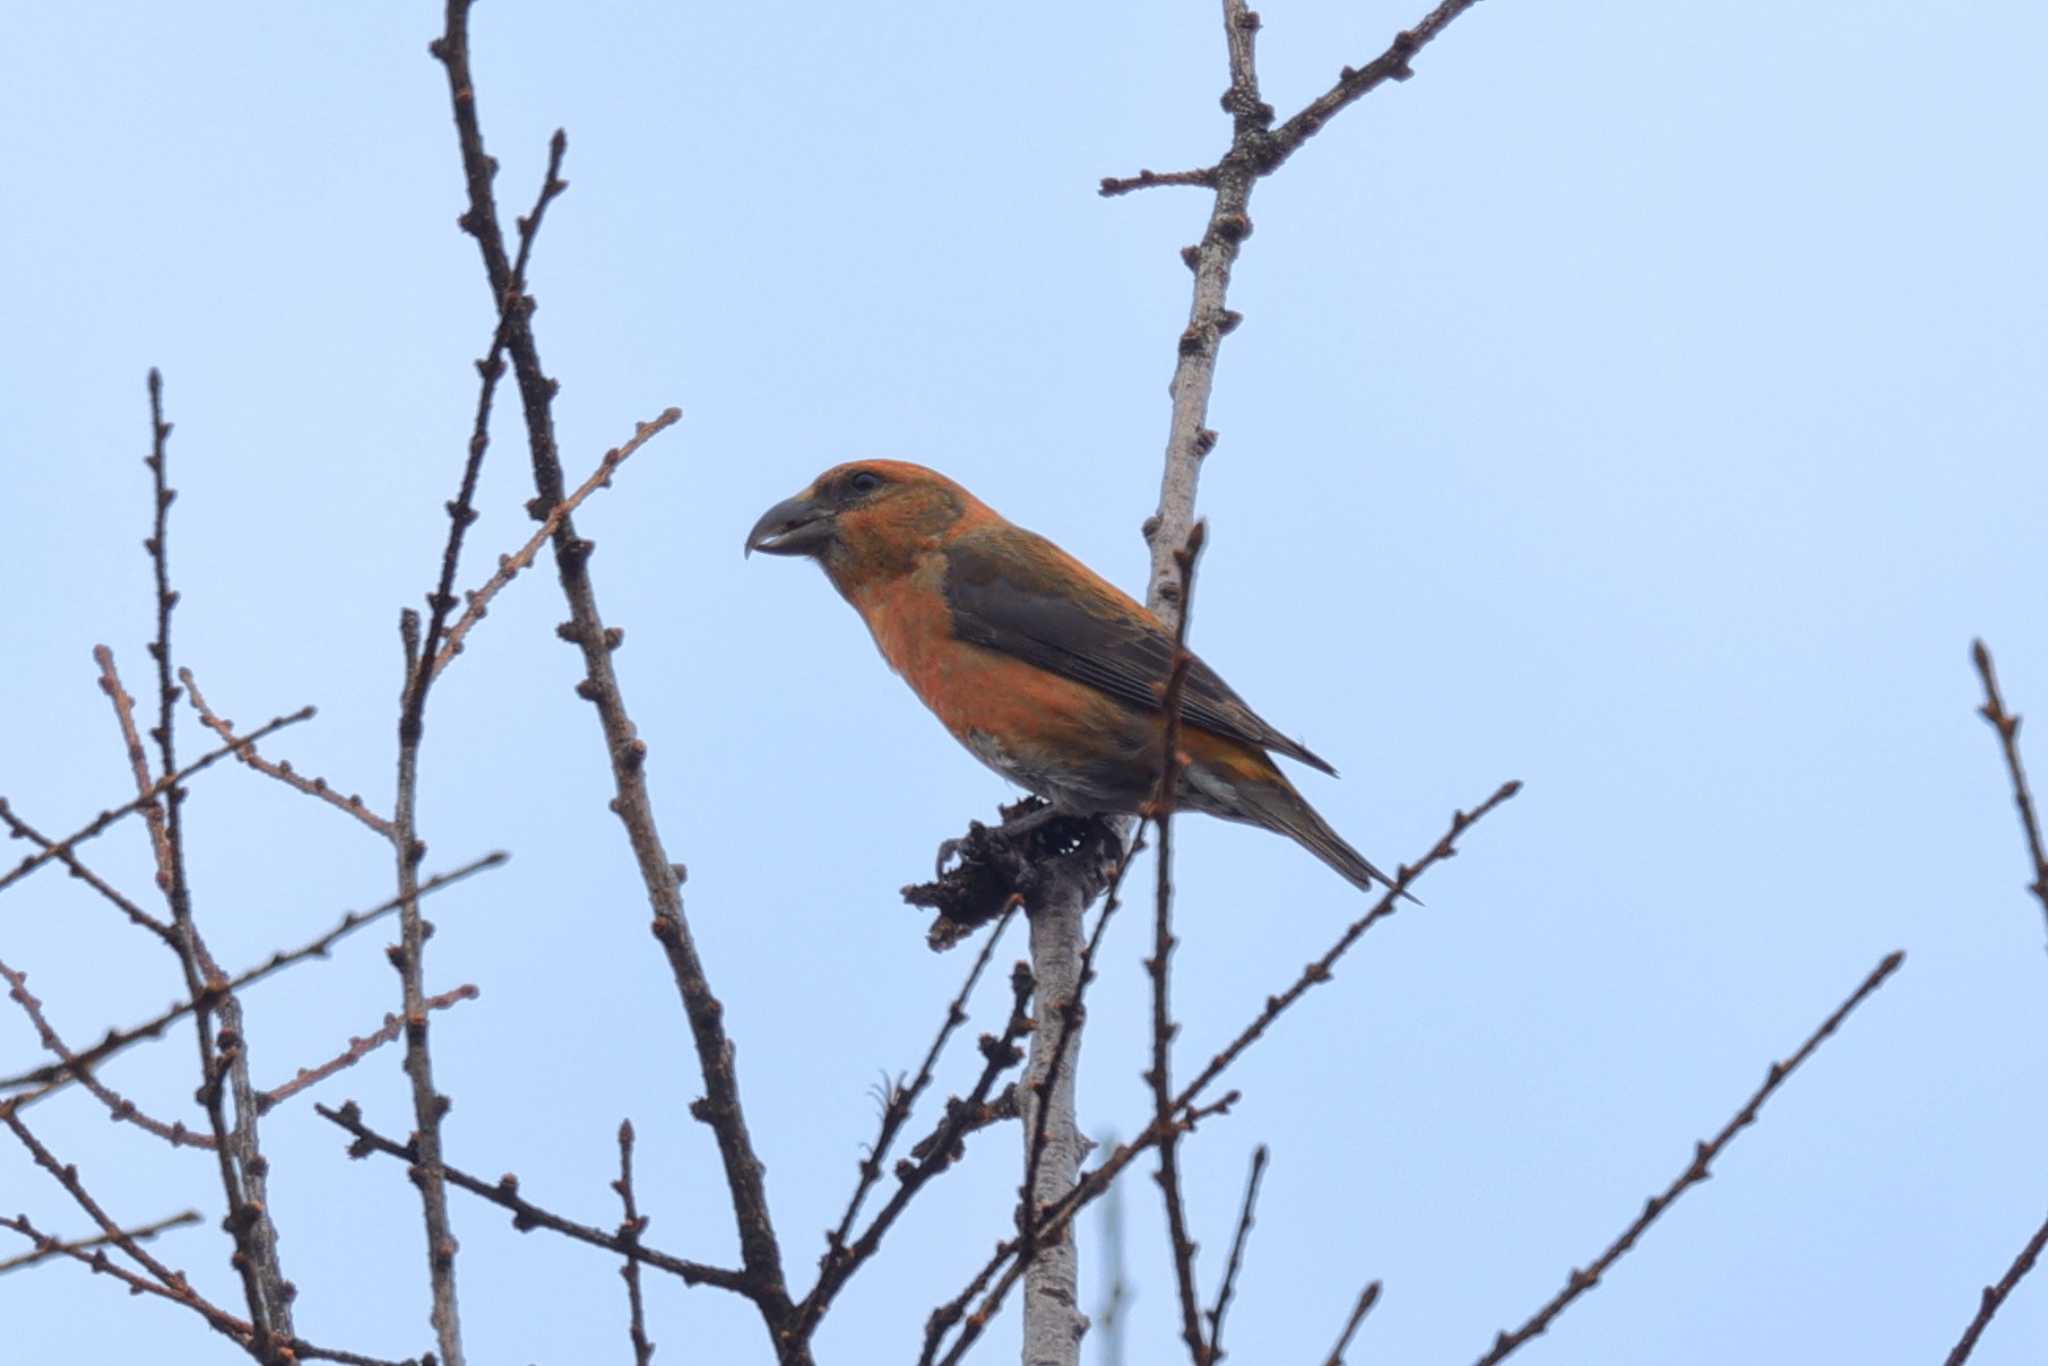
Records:
[[[946,606],[958,639],[1100,688],[1130,707],[1159,709],[1174,668],[1174,637],[1094,569],[1016,526],[956,537],[944,557]],[[1188,666],[1180,717],[1337,772],[1268,725],[1200,659]]]

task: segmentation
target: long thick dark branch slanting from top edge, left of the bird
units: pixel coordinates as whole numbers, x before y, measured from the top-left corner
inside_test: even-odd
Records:
[[[498,301],[504,299],[512,283],[512,260],[506,256],[504,229],[498,223],[498,203],[492,190],[496,162],[483,150],[483,131],[477,121],[475,78],[469,66],[469,0],[446,0],[446,27],[434,39],[432,53],[446,68],[449,100],[455,113],[463,178],[469,190],[469,207],[459,221],[477,242],[492,299]],[[532,512],[535,520],[543,520],[551,508],[563,502],[561,457],[555,446],[553,418],[557,385],[541,367],[530,309],[508,309],[506,317],[510,319],[506,350],[512,356],[512,373],[518,381],[526,416],[526,444],[532,457],[535,500],[528,504],[528,512]],[[612,784],[616,791],[612,809],[627,829],[641,881],[647,887],[647,899],[653,907],[653,934],[676,979],[676,991],[682,997],[698,1065],[705,1075],[705,1098],[692,1104],[692,1114],[709,1124],[717,1139],[725,1186],[733,1200],[733,1225],[739,1235],[741,1262],[754,1290],[752,1298],[762,1309],[770,1348],[782,1366],[809,1366],[809,1346],[791,1331],[797,1307],[788,1296],[782,1249],[768,1210],[762,1161],[754,1153],[754,1141],[748,1135],[745,1112],[739,1102],[739,1079],[733,1067],[733,1047],[725,1034],[723,1008],[705,977],[705,965],[698,958],[696,940],[684,915],[678,866],[670,860],[655,825],[645,780],[647,743],[639,737],[627,713],[612,666],[612,651],[618,649],[623,637],[604,627],[596,590],[590,582],[590,555],[594,547],[575,535],[573,518],[561,518],[555,526],[553,543],[555,569],[569,606],[569,621],[557,627],[557,635],[573,643],[584,655],[584,682],[578,684],[578,694],[596,707],[606,754],[612,762]]]

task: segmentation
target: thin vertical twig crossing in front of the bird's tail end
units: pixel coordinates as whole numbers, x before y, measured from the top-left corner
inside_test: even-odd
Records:
[[[1165,1206],[1165,1231],[1174,1251],[1174,1290],[1180,1298],[1180,1337],[1188,1346],[1188,1360],[1194,1366],[1208,1366],[1214,1360],[1208,1341],[1202,1337],[1202,1305],[1194,1290],[1194,1239],[1188,1235],[1188,1206],[1180,1190],[1180,1128],[1174,1124],[1174,1024],[1171,1012],[1171,958],[1174,958],[1174,803],[1180,801],[1180,698],[1188,686],[1188,618],[1194,614],[1194,561],[1202,553],[1206,522],[1188,528],[1188,543],[1174,553],[1174,567],[1180,569],[1180,612],[1174,623],[1174,664],[1167,670],[1161,711],[1165,715],[1165,737],[1159,762],[1159,786],[1153,793],[1151,821],[1159,831],[1157,854],[1157,895],[1153,897],[1153,952],[1145,961],[1145,975],[1153,989],[1151,1067],[1145,1083],[1153,1094],[1153,1126],[1159,1130],[1159,1200]]]

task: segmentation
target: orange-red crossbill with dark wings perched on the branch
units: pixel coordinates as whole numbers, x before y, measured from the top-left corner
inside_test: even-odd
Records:
[[[823,565],[889,668],[975,758],[1044,797],[1042,815],[1135,813],[1155,795],[1171,633],[952,479],[903,461],[838,465],[762,514],[748,532],[754,551]],[[1182,807],[1276,829],[1358,887],[1389,883],[1268,750],[1337,770],[1200,659],[1188,668],[1180,721]]]

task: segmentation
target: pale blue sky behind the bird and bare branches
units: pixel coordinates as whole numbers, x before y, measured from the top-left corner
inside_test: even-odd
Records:
[[[1419,12],[1268,6],[1268,98],[1298,106]],[[12,14],[0,791],[45,829],[125,786],[90,647],[141,684],[150,365],[178,426],[182,661],[244,723],[317,702],[274,754],[389,805],[393,623],[430,586],[489,332],[438,25],[424,4]],[[1518,1360],[1939,1360],[2040,1223],[2048,956],[1966,651],[1993,641],[2013,702],[2048,717],[2044,45],[2048,12],[2009,0],[1497,0],[1262,184],[1196,645],[1343,770],[1305,791],[1376,862],[1413,860],[1499,780],[1528,786],[1190,1145],[1204,1286],[1247,1153],[1274,1147],[1237,1360],[1321,1360],[1366,1278],[1386,1292],[1356,1360],[1473,1360],[1896,946],[1903,973],[1716,1180]],[[815,571],[743,563],[739,539],[817,469],[893,455],[1143,582],[1178,248],[1206,209],[1094,184],[1221,150],[1219,20],[494,0],[475,63],[508,215],[547,133],[571,139],[532,272],[565,463],[684,410],[582,524],[807,1284],[872,1133],[866,1090],[915,1063],[967,969],[924,948],[895,889],[1008,793]],[[465,582],[524,539],[528,496],[506,408]],[[449,1153],[608,1225],[631,1114],[649,1239],[731,1260],[559,616],[551,573],[516,584],[428,725],[428,864],[514,854],[432,911],[432,985],[481,987],[436,1034]],[[209,774],[188,829],[227,963],[389,893],[375,838],[248,772]],[[1257,831],[1190,819],[1176,844],[1198,1059],[1362,903]],[[139,827],[92,852],[147,891]],[[74,1040],[176,993],[162,950],[68,879],[0,913],[0,956]],[[1112,932],[1092,1004],[1094,1130],[1149,1106],[1145,938]],[[260,1081],[393,1008],[379,944],[250,991]],[[975,1028],[999,1018],[989,985]],[[35,1055],[18,1018],[0,1040]],[[188,1067],[174,1038],[111,1071],[178,1112]],[[322,1094],[410,1124],[395,1053]],[[215,1190],[205,1155],[80,1098],[33,1118],[129,1219]],[[264,1133],[301,1331],[426,1348],[399,1167],[346,1161],[305,1102]],[[918,1206],[823,1360],[913,1356],[1008,1219],[1014,1149],[983,1137]],[[82,1227],[20,1153],[0,1151],[0,1206]],[[612,1260],[455,1214],[473,1360],[627,1356]],[[1178,1360],[1145,1180],[1128,1225],[1128,1360]],[[233,1300],[217,1231],[164,1247]],[[0,1319],[20,1360],[227,1352],[68,1268],[0,1280]],[[659,1360],[762,1360],[752,1311],[666,1278],[651,1333]],[[2048,1284],[2028,1284],[1974,1360],[2034,1362],[2044,1339]],[[1012,1352],[1001,1327],[983,1360]]]

